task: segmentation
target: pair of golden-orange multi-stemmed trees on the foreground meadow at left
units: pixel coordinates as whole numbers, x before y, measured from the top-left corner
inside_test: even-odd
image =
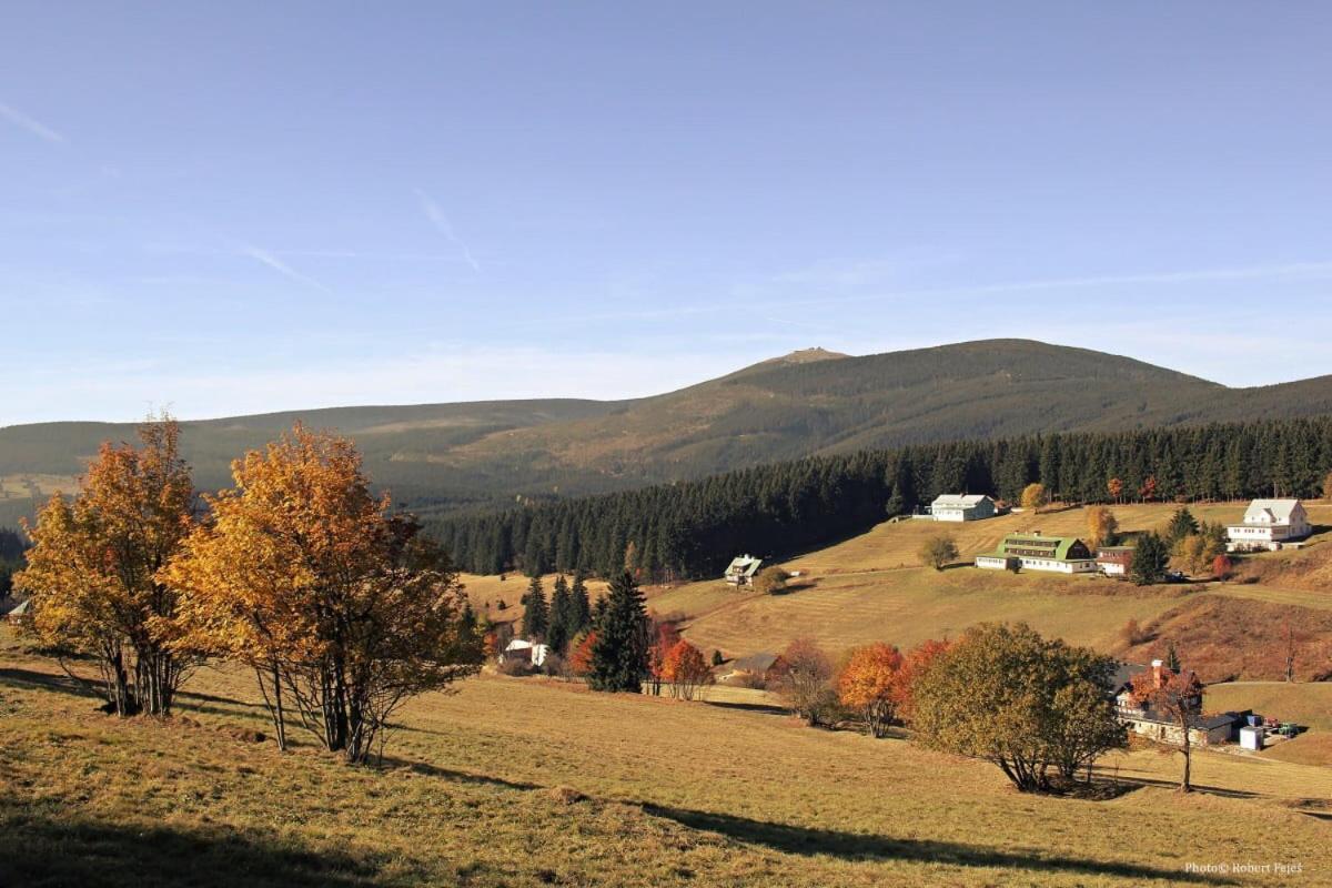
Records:
[[[280,747],[289,710],[365,762],[410,696],[481,663],[481,630],[438,545],[376,497],[350,442],[296,426],[196,501],[180,427],[104,445],[29,529],[16,584],[40,646],[93,658],[108,710],[169,715],[205,658],[254,671]],[[63,660],[64,662],[64,660]]]

